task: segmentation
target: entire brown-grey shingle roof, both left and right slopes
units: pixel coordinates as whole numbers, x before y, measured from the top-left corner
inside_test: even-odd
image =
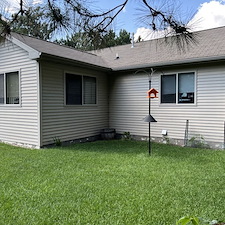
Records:
[[[185,51],[178,49],[176,44],[167,44],[164,38],[135,43],[133,48],[131,44],[128,44],[82,52],[24,35],[13,33],[12,36],[41,53],[115,71],[225,60],[225,27],[199,31],[194,34],[197,44],[188,45]]]

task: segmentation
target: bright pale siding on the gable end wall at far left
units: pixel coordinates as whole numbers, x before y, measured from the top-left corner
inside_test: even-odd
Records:
[[[38,63],[10,41],[0,45],[0,52],[0,73],[20,74],[20,105],[0,105],[0,140],[39,147]]]

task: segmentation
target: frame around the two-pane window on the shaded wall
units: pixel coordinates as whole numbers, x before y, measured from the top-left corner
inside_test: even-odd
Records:
[[[82,96],[81,96],[81,104],[67,104],[66,103],[66,74],[73,74],[77,76],[81,76],[82,80]],[[85,104],[84,103],[84,77],[94,77],[96,79],[96,101],[95,104]],[[97,106],[98,105],[98,79],[94,75],[89,75],[89,74],[81,74],[81,73],[76,73],[76,72],[71,72],[71,71],[65,71],[64,72],[64,105],[68,107],[79,107],[79,106]]]

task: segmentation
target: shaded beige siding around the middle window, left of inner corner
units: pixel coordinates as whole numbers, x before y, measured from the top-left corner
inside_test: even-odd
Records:
[[[69,141],[100,133],[108,128],[107,75],[90,69],[42,63],[42,145],[53,143],[55,137]],[[65,105],[65,73],[95,76],[96,105]]]

